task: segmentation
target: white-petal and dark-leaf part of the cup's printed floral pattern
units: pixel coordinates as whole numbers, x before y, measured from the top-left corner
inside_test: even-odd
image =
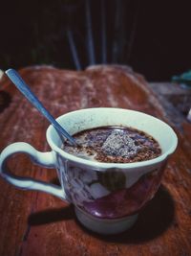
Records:
[[[80,168],[63,160],[57,155],[60,182],[69,201],[83,207],[84,201],[94,201],[109,195],[111,192],[125,188],[126,176],[123,172],[99,172]]]

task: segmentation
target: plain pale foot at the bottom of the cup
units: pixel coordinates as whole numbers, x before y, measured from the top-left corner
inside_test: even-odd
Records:
[[[85,213],[77,207],[74,209],[78,221],[91,231],[104,235],[121,233],[131,228],[138,219],[138,214],[115,220],[99,219]]]

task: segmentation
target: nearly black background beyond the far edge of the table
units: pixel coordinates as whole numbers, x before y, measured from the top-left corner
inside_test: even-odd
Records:
[[[96,63],[127,64],[148,81],[170,81],[191,67],[190,1],[18,0],[0,12],[0,68],[51,64],[75,69],[71,32],[80,68],[90,59],[92,28]],[[91,20],[87,21],[87,6]],[[101,15],[102,11],[104,15]],[[105,18],[106,59],[102,59]]]

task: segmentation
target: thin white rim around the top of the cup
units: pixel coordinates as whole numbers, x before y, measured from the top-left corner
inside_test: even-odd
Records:
[[[54,128],[53,125],[50,125],[49,128],[47,128],[47,132],[46,132],[46,136],[47,136],[47,141],[50,145],[50,147],[52,148],[53,151],[61,154],[64,158],[67,158],[68,160],[71,160],[77,164],[80,165],[85,165],[85,166],[89,166],[89,167],[94,167],[96,169],[110,169],[110,168],[117,168],[117,169],[134,169],[134,168],[139,168],[139,167],[144,167],[144,166],[151,166],[151,165],[155,165],[158,164],[159,162],[162,162],[163,160],[165,160],[170,154],[172,154],[178,145],[178,137],[177,134],[175,133],[175,131],[173,130],[173,128],[171,128],[168,124],[166,124],[165,122],[161,121],[159,118],[156,118],[152,115],[146,114],[144,112],[141,111],[137,111],[137,110],[132,110],[132,109],[126,109],[126,108],[117,108],[117,107],[92,107],[92,108],[83,108],[83,109],[78,109],[78,110],[74,110],[68,113],[65,113],[59,117],[56,118],[56,121],[59,122],[60,119],[62,119],[64,116],[70,115],[72,113],[75,112],[79,112],[79,111],[84,111],[84,110],[88,110],[88,109],[121,109],[121,110],[128,110],[131,112],[137,112],[137,113],[141,113],[144,114],[145,116],[150,116],[154,119],[157,119],[159,122],[161,122],[164,126],[167,126],[169,128],[169,130],[172,132],[172,136],[174,137],[174,141],[173,144],[171,146],[171,148],[162,153],[161,155],[159,155],[156,158],[150,159],[150,160],[144,160],[144,161],[140,161],[140,162],[133,162],[133,163],[104,163],[104,162],[96,162],[96,161],[92,161],[92,160],[88,160],[88,159],[84,159],[84,158],[80,158],[77,156],[74,156],[71,153],[68,153],[66,151],[63,151],[62,149],[60,149],[52,140],[51,138],[51,133],[53,132]]]

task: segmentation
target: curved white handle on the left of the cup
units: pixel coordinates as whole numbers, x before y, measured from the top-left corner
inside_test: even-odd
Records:
[[[64,189],[61,186],[49,184],[47,182],[35,180],[31,177],[19,177],[9,172],[7,160],[14,153],[29,154],[33,163],[46,167],[55,168],[53,151],[36,151],[30,144],[25,142],[16,142],[4,149],[0,154],[0,175],[12,185],[24,190],[37,190],[52,194],[57,198],[66,200]]]

